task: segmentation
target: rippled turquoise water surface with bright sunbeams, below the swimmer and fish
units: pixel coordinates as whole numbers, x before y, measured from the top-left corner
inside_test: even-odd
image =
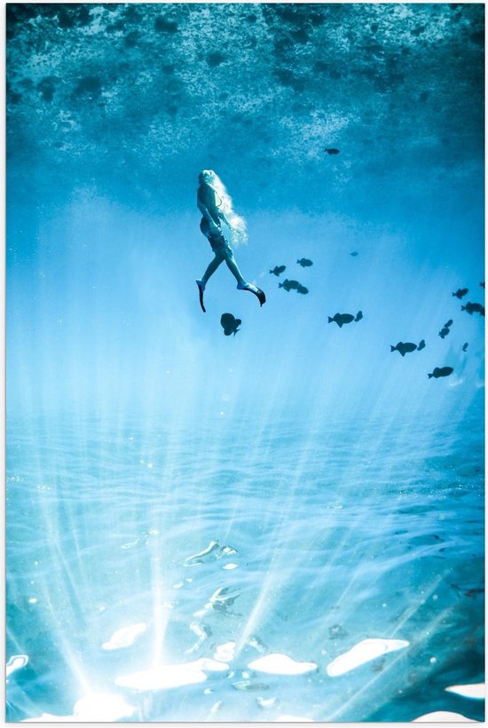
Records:
[[[7,654],[28,664],[10,678],[9,719],[68,716],[99,692],[141,721],[481,719],[482,701],[445,692],[483,681],[480,408],[440,429],[12,423]],[[330,677],[366,638],[407,646]],[[229,643],[205,682],[117,684]],[[316,669],[248,668],[270,653]]]

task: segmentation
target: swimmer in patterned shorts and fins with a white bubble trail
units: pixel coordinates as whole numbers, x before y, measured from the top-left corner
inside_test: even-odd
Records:
[[[229,241],[227,241],[222,232],[221,220],[224,220],[224,223],[231,230],[232,242],[246,241],[248,236],[246,234],[245,221],[232,210],[232,200],[226,193],[223,183],[213,170],[203,170],[199,175],[198,181],[200,185],[197,192],[197,205],[203,215],[200,229],[205,237],[208,238],[212,250],[215,253],[215,257],[209,264],[209,267],[203,273],[201,279],[197,281],[201,310],[205,313],[205,307],[203,305],[203,291],[205,290],[205,286],[210,276],[216,272],[216,269],[223,261],[225,261],[237,281],[237,288],[254,293],[259,299],[260,305],[263,305],[266,301],[264,292],[258,289],[257,286],[254,286],[252,283],[247,283],[244,280],[239,266],[235,261]]]

